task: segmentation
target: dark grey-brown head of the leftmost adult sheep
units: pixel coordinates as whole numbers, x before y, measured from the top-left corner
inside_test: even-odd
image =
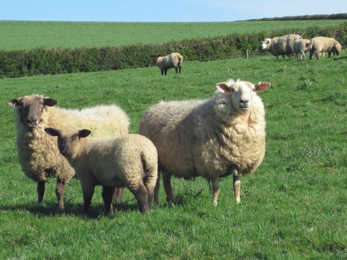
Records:
[[[7,101],[7,104],[18,109],[20,121],[29,129],[34,130],[39,126],[41,113],[44,107],[54,106],[57,101],[38,95],[24,96]]]

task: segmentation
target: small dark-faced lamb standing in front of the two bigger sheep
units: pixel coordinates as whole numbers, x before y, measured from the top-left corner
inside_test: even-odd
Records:
[[[81,182],[83,212],[87,213],[96,185],[103,186],[106,214],[113,213],[114,187],[127,187],[135,196],[141,212],[152,205],[157,181],[158,156],[153,143],[137,134],[116,138],[86,138],[91,131],[73,127],[45,128],[58,137],[58,149],[75,169]]]

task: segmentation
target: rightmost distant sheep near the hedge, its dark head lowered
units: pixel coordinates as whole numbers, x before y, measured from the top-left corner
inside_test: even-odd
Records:
[[[316,58],[319,60],[320,52],[328,52],[330,58],[332,52],[334,53],[334,56],[335,54],[339,55],[342,50],[342,46],[334,38],[314,37],[311,39],[308,49],[310,50],[310,59],[312,59],[313,53],[316,53]]]

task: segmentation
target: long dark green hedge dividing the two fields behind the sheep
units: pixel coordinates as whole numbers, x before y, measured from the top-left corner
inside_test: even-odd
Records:
[[[183,40],[165,44],[123,47],[0,51],[0,78],[116,70],[152,65],[151,54],[179,52],[185,60],[207,61],[239,56],[246,49],[257,51],[267,37],[297,33],[304,38],[334,37],[347,45],[347,23],[326,28],[287,29],[253,34],[231,34],[214,38]]]

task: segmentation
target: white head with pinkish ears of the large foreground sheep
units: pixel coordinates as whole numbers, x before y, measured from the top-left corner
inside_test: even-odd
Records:
[[[252,108],[255,93],[265,91],[270,85],[268,82],[252,84],[248,81],[237,80],[235,82],[233,79],[229,79],[227,82],[218,83],[216,87],[220,92],[228,95],[235,112],[245,113]]]

